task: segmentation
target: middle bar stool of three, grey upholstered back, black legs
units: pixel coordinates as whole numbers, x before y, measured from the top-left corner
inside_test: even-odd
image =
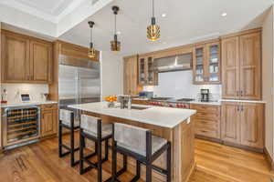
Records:
[[[103,162],[109,159],[109,139],[112,137],[112,124],[103,124],[99,117],[81,115],[80,120],[80,147],[79,147],[79,173],[84,174],[92,168],[98,170],[98,182],[102,181]],[[84,157],[84,140],[88,138],[95,143],[95,152],[87,157]],[[105,156],[101,158],[101,144],[105,141]],[[97,162],[92,163],[89,158],[97,156]],[[124,160],[125,161],[125,160]],[[89,167],[84,168],[86,162]],[[124,162],[125,163],[125,162]],[[125,168],[125,167],[123,167]],[[124,169],[125,170],[125,169]]]

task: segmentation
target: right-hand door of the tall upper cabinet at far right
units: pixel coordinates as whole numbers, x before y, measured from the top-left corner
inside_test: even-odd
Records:
[[[261,99],[261,34],[240,36],[241,99]]]

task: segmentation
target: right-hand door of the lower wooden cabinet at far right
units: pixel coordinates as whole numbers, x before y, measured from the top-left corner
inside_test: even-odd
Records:
[[[243,103],[240,112],[241,145],[264,147],[264,106],[263,104]]]

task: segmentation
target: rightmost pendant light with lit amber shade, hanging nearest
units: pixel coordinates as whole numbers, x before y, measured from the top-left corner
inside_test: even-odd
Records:
[[[147,26],[147,38],[151,41],[156,41],[160,38],[160,26],[156,25],[156,18],[154,16],[154,0],[153,0],[153,17],[152,25]]]

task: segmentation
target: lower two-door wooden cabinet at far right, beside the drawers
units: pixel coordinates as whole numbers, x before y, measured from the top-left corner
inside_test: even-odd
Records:
[[[222,104],[222,140],[236,145],[264,147],[264,105],[224,102]]]

